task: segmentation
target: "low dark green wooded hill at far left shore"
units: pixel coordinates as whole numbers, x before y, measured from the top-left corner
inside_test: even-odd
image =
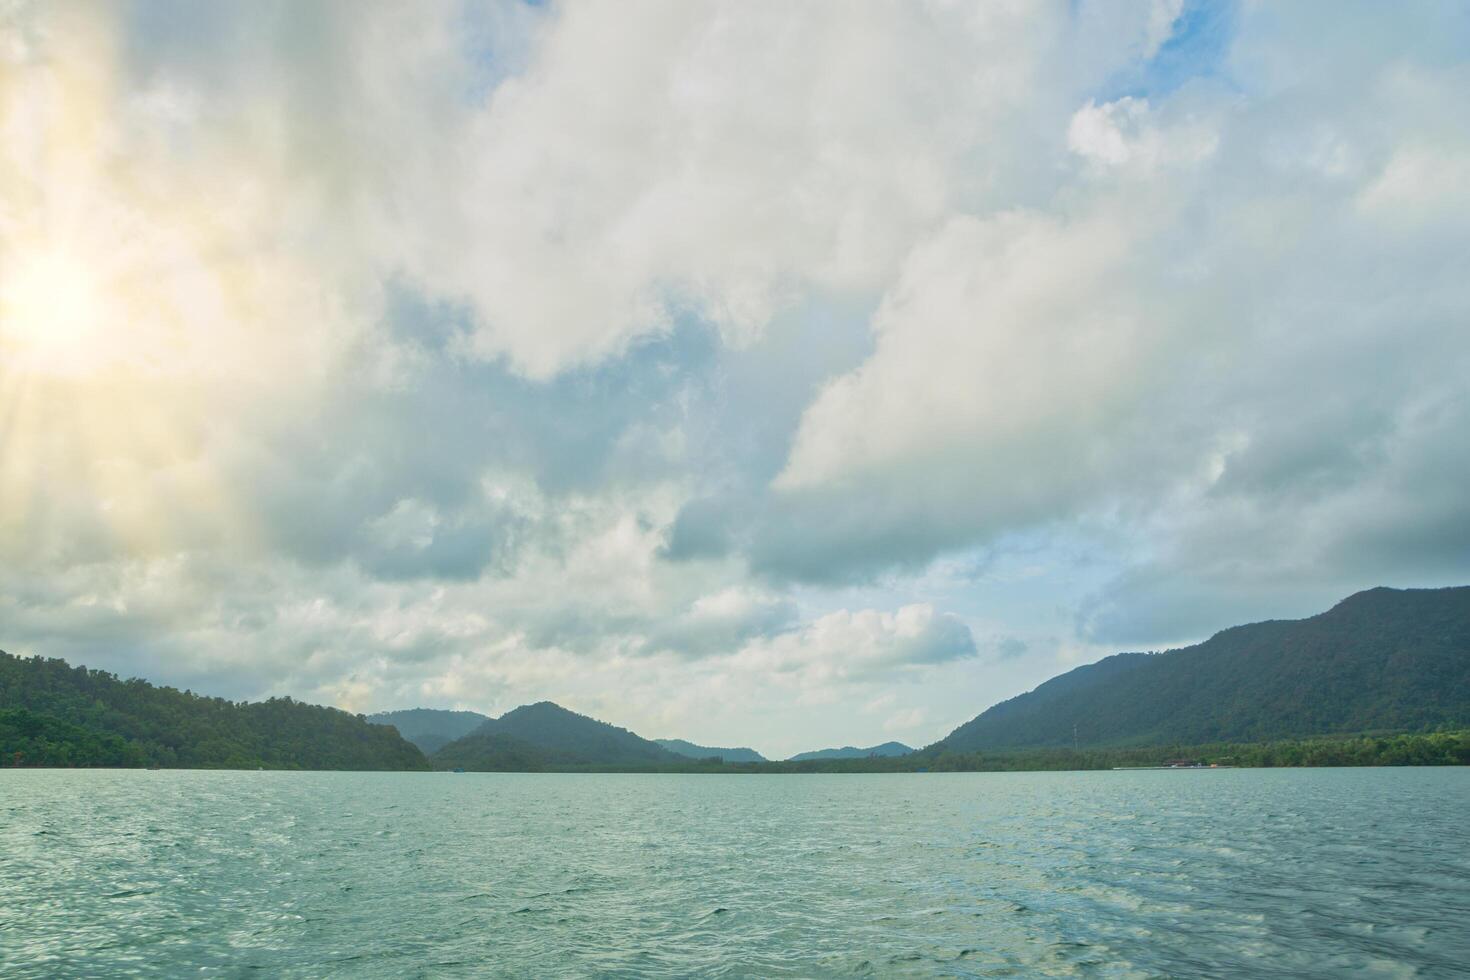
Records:
[[[18,755],[19,754],[19,755]],[[272,698],[206,698],[0,652],[0,765],[428,768],[392,729]]]

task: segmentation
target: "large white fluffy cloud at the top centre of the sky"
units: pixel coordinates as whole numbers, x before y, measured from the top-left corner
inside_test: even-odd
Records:
[[[1158,15],[1127,6],[1048,79],[1085,44],[1055,12],[567,4],[523,73],[422,134],[438,166],[397,188],[388,260],[535,376],[684,309],[748,342],[808,291],[881,289],[926,228],[1023,179],[1029,147],[992,134],[1152,44]]]

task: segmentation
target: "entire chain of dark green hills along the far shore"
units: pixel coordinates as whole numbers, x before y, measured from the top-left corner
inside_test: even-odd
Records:
[[[392,770],[426,768],[432,761],[467,770],[704,771],[717,768],[710,760],[719,757],[757,763],[759,771],[810,771],[828,763],[856,771],[861,760],[881,757],[886,761],[870,768],[898,771],[1004,767],[1007,758],[1025,761],[1017,754],[1029,749],[1075,757],[1073,745],[1122,758],[1142,746],[1347,735],[1374,738],[1360,739],[1367,748],[1348,755],[1311,752],[1444,760],[1452,752],[1430,746],[1414,755],[1385,748],[1376,736],[1454,730],[1470,730],[1470,586],[1369,589],[1304,620],[1236,626],[1160,654],[1116,654],[991,707],[913,758],[895,761],[913,749],[885,742],[786,760],[806,763],[801,767],[759,765],[760,755],[748,748],[654,742],[550,701],[498,718],[434,708],[365,718],[291,698],[254,704],[206,698],[60,660],[0,652],[0,764],[16,765]]]

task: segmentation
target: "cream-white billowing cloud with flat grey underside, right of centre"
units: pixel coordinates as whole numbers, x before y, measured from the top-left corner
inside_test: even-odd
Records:
[[[916,250],[875,316],[872,359],[807,408],[757,566],[922,564],[1130,469],[1098,436],[1136,423],[1142,392],[1120,381],[1163,354],[1127,288],[1136,250],[1110,209],[956,219]]]

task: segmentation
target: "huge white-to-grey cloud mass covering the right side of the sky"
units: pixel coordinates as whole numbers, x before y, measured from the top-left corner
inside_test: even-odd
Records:
[[[1463,401],[1470,295],[1442,262],[1467,228],[1448,179],[1464,138],[1421,106],[1463,84],[1386,57],[1355,94],[1313,103],[1332,123],[1308,140],[1297,113],[1211,88],[1158,112],[1085,103],[1070,148],[1088,167],[1051,209],[954,219],[913,250],[873,354],[801,420],[757,567],[872,576],[1082,520],[1130,536],[1145,563],[1111,602],[1155,563],[1161,579],[1214,567],[1211,621],[1250,616],[1226,598],[1227,569],[1270,563],[1283,541],[1277,577],[1322,583],[1314,597],[1429,573],[1436,550],[1410,527],[1458,541],[1470,523],[1436,489],[1463,466],[1458,444],[1420,435]],[[1395,198],[1410,185],[1442,210]],[[1408,460],[1432,467],[1423,480],[1399,475]],[[1417,566],[1389,558],[1398,522],[1424,542],[1408,548]],[[1370,527],[1376,544],[1360,545]],[[1351,572],[1345,554],[1361,558]]]

